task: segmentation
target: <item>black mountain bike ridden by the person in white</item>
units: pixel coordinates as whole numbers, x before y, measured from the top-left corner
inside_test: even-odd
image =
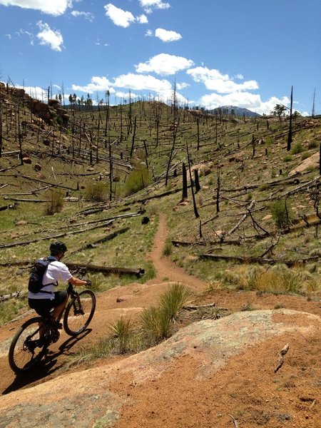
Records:
[[[24,373],[35,367],[46,355],[49,346],[58,342],[58,330],[62,327],[72,337],[86,330],[95,312],[96,296],[91,290],[77,292],[70,282],[67,294],[70,300],[67,300],[66,308],[57,320],[53,321],[50,314],[48,317],[34,317],[24,322],[16,332],[9,348],[9,365],[14,372]]]

